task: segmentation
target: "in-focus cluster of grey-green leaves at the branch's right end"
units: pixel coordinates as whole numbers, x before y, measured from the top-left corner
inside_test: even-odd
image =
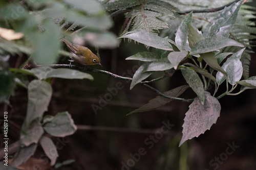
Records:
[[[135,84],[140,83],[142,79],[153,74],[154,71],[167,71],[168,69],[175,68],[176,70],[181,70],[184,79],[197,94],[197,98],[190,104],[189,110],[186,113],[182,131],[183,137],[180,145],[187,139],[197,137],[204,133],[206,130],[210,129],[212,124],[216,123],[221,110],[218,99],[222,98],[224,95],[234,95],[231,92],[239,83],[246,87],[254,87],[254,82],[251,78],[246,83],[240,81],[243,73],[241,58],[245,50],[245,48],[243,48],[245,45],[238,42],[237,39],[231,39],[232,37],[229,36],[232,34],[231,30],[236,23],[241,5],[242,2],[233,3],[219,12],[218,16],[206,26],[203,34],[195,26],[191,25],[193,23],[193,14],[189,13],[177,29],[175,42],[167,39],[168,42],[172,42],[171,45],[173,46],[173,51],[170,51],[167,57],[158,57],[156,54],[140,52],[139,54],[127,58],[144,62],[144,64],[135,72],[131,88],[133,88]],[[128,32],[120,38],[130,38],[140,43],[143,43],[144,39],[149,39],[151,44],[144,44],[155,48],[157,47],[152,44],[154,39],[151,35],[147,36],[144,34],[144,31],[140,31],[143,37],[133,36],[134,32],[135,31]],[[239,51],[236,51],[234,54],[231,53],[232,55],[227,58],[225,63],[221,66],[221,61],[228,56],[226,53],[223,53],[223,51],[227,49],[225,47],[230,46]],[[192,63],[184,63],[183,61],[186,59],[190,59]],[[157,66],[153,63],[157,63]],[[219,96],[215,96],[220,84],[225,80],[227,87],[226,92]],[[136,82],[134,83],[134,81]],[[216,86],[214,94],[207,92],[211,83],[214,83]],[[228,83],[232,85],[231,89],[229,88]],[[240,92],[242,92],[243,89],[244,88],[242,88]],[[183,90],[183,88],[180,88],[180,90]],[[170,96],[177,97],[177,94],[170,93]],[[131,113],[150,110],[147,108],[148,106],[154,105],[152,102],[155,102],[155,105],[158,106],[158,103],[161,103],[161,100],[162,98],[158,97]],[[171,100],[172,99],[169,99],[169,101]],[[209,119],[209,117],[212,119]]]

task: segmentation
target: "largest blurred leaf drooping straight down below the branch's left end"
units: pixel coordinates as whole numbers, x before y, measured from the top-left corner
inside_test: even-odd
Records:
[[[52,87],[49,83],[40,80],[33,80],[28,86],[28,108],[25,118],[26,126],[34,119],[39,121],[47,111],[52,96]]]

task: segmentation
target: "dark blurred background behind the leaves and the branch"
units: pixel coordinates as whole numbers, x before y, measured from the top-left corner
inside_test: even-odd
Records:
[[[256,2],[253,3],[256,6]],[[113,31],[117,30],[118,26]],[[129,74],[134,74],[138,63],[126,61],[125,58],[144,49],[143,45],[122,42],[117,49],[101,50],[102,69],[131,77]],[[253,50],[255,52],[256,48]],[[14,67],[23,59],[12,60],[11,66]],[[100,66],[93,67],[101,69]],[[89,73],[95,79],[93,82],[65,79],[52,81],[53,96],[48,114],[68,111],[78,125],[74,135],[63,139],[53,138],[55,144],[61,143],[62,146],[58,150],[57,162],[75,160],[59,169],[256,169],[256,90],[221,98],[222,110],[217,123],[204,134],[178,147],[188,103],[173,101],[156,110],[126,116],[157,94],[141,85],[130,90],[131,82],[97,72]],[[159,75],[153,75],[151,79]],[[251,76],[256,76],[255,54],[251,55]],[[106,104],[99,103],[110,93],[108,88],[116,87],[117,84],[123,85],[123,88]],[[177,71],[173,77],[150,85],[160,91],[167,91],[184,84],[186,82],[181,72]],[[221,90],[224,91],[224,88]],[[194,96],[192,90],[182,94],[187,99]],[[9,135],[10,141],[14,142],[19,139],[20,127],[26,115],[27,91],[18,87],[10,103]],[[95,112],[93,106],[96,105]],[[164,125],[163,122],[169,122],[172,128],[158,136],[159,139],[151,139]],[[138,156],[138,153],[141,155]],[[46,159],[40,147],[35,157]]]

